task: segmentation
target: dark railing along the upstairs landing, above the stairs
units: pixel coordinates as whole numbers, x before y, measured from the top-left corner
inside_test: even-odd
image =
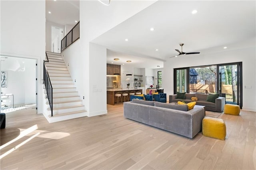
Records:
[[[80,22],[61,40],[61,52],[80,38]]]

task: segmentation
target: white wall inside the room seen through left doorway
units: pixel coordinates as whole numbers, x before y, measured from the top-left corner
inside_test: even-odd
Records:
[[[35,104],[36,60],[8,57],[1,62],[1,69],[7,72],[7,88],[1,90],[14,95],[14,105]]]

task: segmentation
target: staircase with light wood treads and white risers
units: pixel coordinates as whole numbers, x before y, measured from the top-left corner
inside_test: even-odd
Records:
[[[48,51],[46,53],[49,60],[49,62],[46,62],[46,69],[52,83],[53,92],[53,117],[51,117],[49,106],[46,119],[52,123],[86,116],[85,107],[82,105],[81,97],[78,95],[76,87],[74,87],[62,56],[60,53]],[[49,105],[48,99],[46,104]]]

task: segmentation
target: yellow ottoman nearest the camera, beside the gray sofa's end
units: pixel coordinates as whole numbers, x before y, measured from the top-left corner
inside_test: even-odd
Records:
[[[202,121],[202,134],[211,138],[225,140],[226,124],[223,119],[204,117]]]

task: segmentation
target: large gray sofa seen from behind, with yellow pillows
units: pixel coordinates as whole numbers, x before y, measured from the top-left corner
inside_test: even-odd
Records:
[[[124,117],[193,138],[202,129],[205,111],[201,107],[187,110],[187,105],[138,99],[124,103]]]

